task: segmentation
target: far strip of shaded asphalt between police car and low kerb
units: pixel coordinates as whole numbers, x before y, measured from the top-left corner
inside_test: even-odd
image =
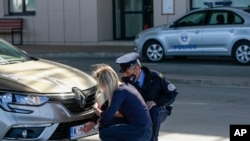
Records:
[[[114,57],[45,56],[43,58],[53,59],[86,72],[91,71],[93,64],[106,63],[119,72]],[[161,63],[142,61],[142,65],[162,72],[173,83],[250,87],[250,66],[240,66],[230,58],[168,59]]]

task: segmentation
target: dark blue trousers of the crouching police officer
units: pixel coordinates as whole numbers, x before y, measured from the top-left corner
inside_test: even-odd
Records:
[[[153,134],[150,141],[158,141],[160,125],[167,119],[170,111],[160,106],[154,106],[149,110],[149,112],[153,122]]]

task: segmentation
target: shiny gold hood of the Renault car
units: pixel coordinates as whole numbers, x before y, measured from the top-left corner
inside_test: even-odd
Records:
[[[81,90],[97,83],[75,68],[40,59],[0,65],[0,89],[34,93],[67,93],[72,87]]]

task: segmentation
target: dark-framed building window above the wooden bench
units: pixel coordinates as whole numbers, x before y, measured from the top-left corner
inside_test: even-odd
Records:
[[[36,0],[9,0],[10,15],[35,15]]]

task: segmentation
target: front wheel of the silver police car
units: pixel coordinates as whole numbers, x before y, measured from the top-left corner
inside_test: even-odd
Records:
[[[144,56],[148,61],[159,62],[164,58],[164,49],[157,41],[151,41],[144,47]]]

